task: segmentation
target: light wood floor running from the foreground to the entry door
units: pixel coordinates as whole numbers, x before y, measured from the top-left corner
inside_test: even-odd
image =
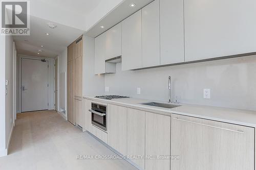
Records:
[[[22,113],[17,115],[9,155],[0,158],[0,169],[136,169],[122,159],[78,160],[77,155],[115,154],[56,111]]]

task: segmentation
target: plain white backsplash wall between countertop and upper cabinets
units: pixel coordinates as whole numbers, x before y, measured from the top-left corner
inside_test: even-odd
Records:
[[[172,99],[181,103],[256,110],[256,56],[168,66],[105,75],[107,94],[168,100],[168,76],[172,77]],[[137,94],[137,87],[141,94]],[[203,99],[203,89],[211,99]]]

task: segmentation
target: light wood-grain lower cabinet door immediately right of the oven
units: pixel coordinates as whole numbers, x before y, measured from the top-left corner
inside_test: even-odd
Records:
[[[127,154],[127,108],[108,104],[108,144],[123,155]]]

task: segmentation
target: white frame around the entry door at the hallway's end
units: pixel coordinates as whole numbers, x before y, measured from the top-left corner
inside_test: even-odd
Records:
[[[48,110],[49,110],[49,108],[50,108],[50,71],[49,71],[49,64],[50,64],[50,60],[49,59],[47,59],[47,58],[39,58],[39,57],[25,57],[25,56],[20,56],[19,57],[19,111],[20,111],[20,113],[23,113],[22,112],[22,59],[29,59],[29,60],[42,60],[42,59],[45,59],[46,60],[46,62],[48,62],[48,69],[47,69],[47,77],[48,77],[48,87],[47,87],[47,91],[48,91],[48,93],[47,93],[47,103],[48,103]]]

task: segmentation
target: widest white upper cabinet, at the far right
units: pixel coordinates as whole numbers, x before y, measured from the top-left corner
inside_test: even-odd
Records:
[[[184,0],[185,60],[256,52],[255,0]]]

